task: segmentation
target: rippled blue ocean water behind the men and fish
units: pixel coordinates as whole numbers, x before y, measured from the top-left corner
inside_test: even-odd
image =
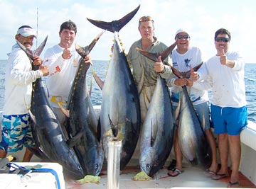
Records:
[[[87,84],[90,87],[90,81],[92,81],[92,93],[91,100],[93,105],[101,105],[102,103],[102,91],[95,83],[92,77],[92,71],[100,76],[104,80],[107,74],[108,61],[93,61],[93,66],[90,67],[87,72]],[[0,111],[4,106],[4,71],[6,60],[0,60]],[[256,76],[255,76],[256,64],[245,64],[245,89],[247,99],[247,111],[248,119],[256,122]],[[114,87],[113,87],[114,90]]]

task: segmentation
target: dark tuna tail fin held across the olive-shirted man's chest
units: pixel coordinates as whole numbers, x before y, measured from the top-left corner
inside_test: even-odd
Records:
[[[158,62],[158,57],[161,56],[161,61],[164,61],[164,59],[166,59],[166,57],[168,57],[171,52],[174,50],[174,47],[176,46],[176,42],[174,42],[170,47],[168,47],[166,50],[161,51],[161,52],[147,52],[144,50],[141,50],[139,48],[136,48],[136,50],[138,52],[140,52],[142,55],[144,55],[145,57],[151,59],[154,62]]]

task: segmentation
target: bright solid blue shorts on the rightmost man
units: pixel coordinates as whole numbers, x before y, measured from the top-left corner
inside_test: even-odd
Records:
[[[238,135],[247,126],[247,107],[222,108],[218,105],[210,105],[210,117],[215,134]]]

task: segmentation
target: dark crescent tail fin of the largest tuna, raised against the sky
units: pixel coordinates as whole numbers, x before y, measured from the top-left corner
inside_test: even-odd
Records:
[[[112,33],[119,32],[119,30],[121,30],[124,27],[124,25],[126,25],[134,17],[134,15],[139,10],[139,7],[140,5],[137,6],[137,8],[135,8],[134,11],[128,13],[126,16],[119,19],[118,21],[105,22],[105,21],[92,20],[90,18],[87,18],[87,20],[93,25],[96,25],[98,28],[102,28],[103,30],[108,30]]]

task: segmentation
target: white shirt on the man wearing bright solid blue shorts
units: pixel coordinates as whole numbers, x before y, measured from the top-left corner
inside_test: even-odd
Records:
[[[198,69],[199,79],[210,76],[213,81],[213,105],[240,108],[246,105],[245,61],[239,52],[228,51],[225,55],[235,62],[233,68],[220,64],[220,57],[215,55]]]

